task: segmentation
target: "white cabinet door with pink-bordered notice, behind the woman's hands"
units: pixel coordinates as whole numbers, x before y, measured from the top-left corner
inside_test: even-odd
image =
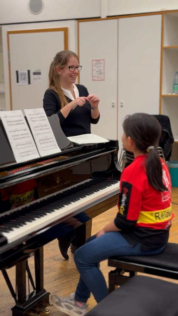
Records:
[[[100,120],[91,131],[108,139],[117,139],[117,54],[117,19],[79,23],[80,83],[100,97]],[[104,59],[104,80],[92,80],[92,60],[97,59]]]

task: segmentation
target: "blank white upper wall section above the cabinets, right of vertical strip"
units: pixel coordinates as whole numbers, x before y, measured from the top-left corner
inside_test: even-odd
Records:
[[[177,9],[177,0],[107,0],[107,16]]]

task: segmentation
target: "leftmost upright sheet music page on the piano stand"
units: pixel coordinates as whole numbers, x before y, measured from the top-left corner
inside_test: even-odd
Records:
[[[40,155],[22,111],[1,111],[0,116],[16,162],[39,158]]]

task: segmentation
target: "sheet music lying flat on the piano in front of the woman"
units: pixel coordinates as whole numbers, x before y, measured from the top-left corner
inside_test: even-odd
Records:
[[[107,143],[108,139],[97,136],[95,134],[82,134],[77,136],[67,137],[71,142],[76,144],[97,144],[97,143]]]

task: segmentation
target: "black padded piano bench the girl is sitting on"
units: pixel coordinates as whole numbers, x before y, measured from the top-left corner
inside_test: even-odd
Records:
[[[109,293],[116,285],[128,281],[136,272],[178,280],[178,244],[167,243],[164,250],[157,255],[110,257],[108,266],[116,268],[109,272]],[[124,275],[125,272],[129,272],[129,276]]]

